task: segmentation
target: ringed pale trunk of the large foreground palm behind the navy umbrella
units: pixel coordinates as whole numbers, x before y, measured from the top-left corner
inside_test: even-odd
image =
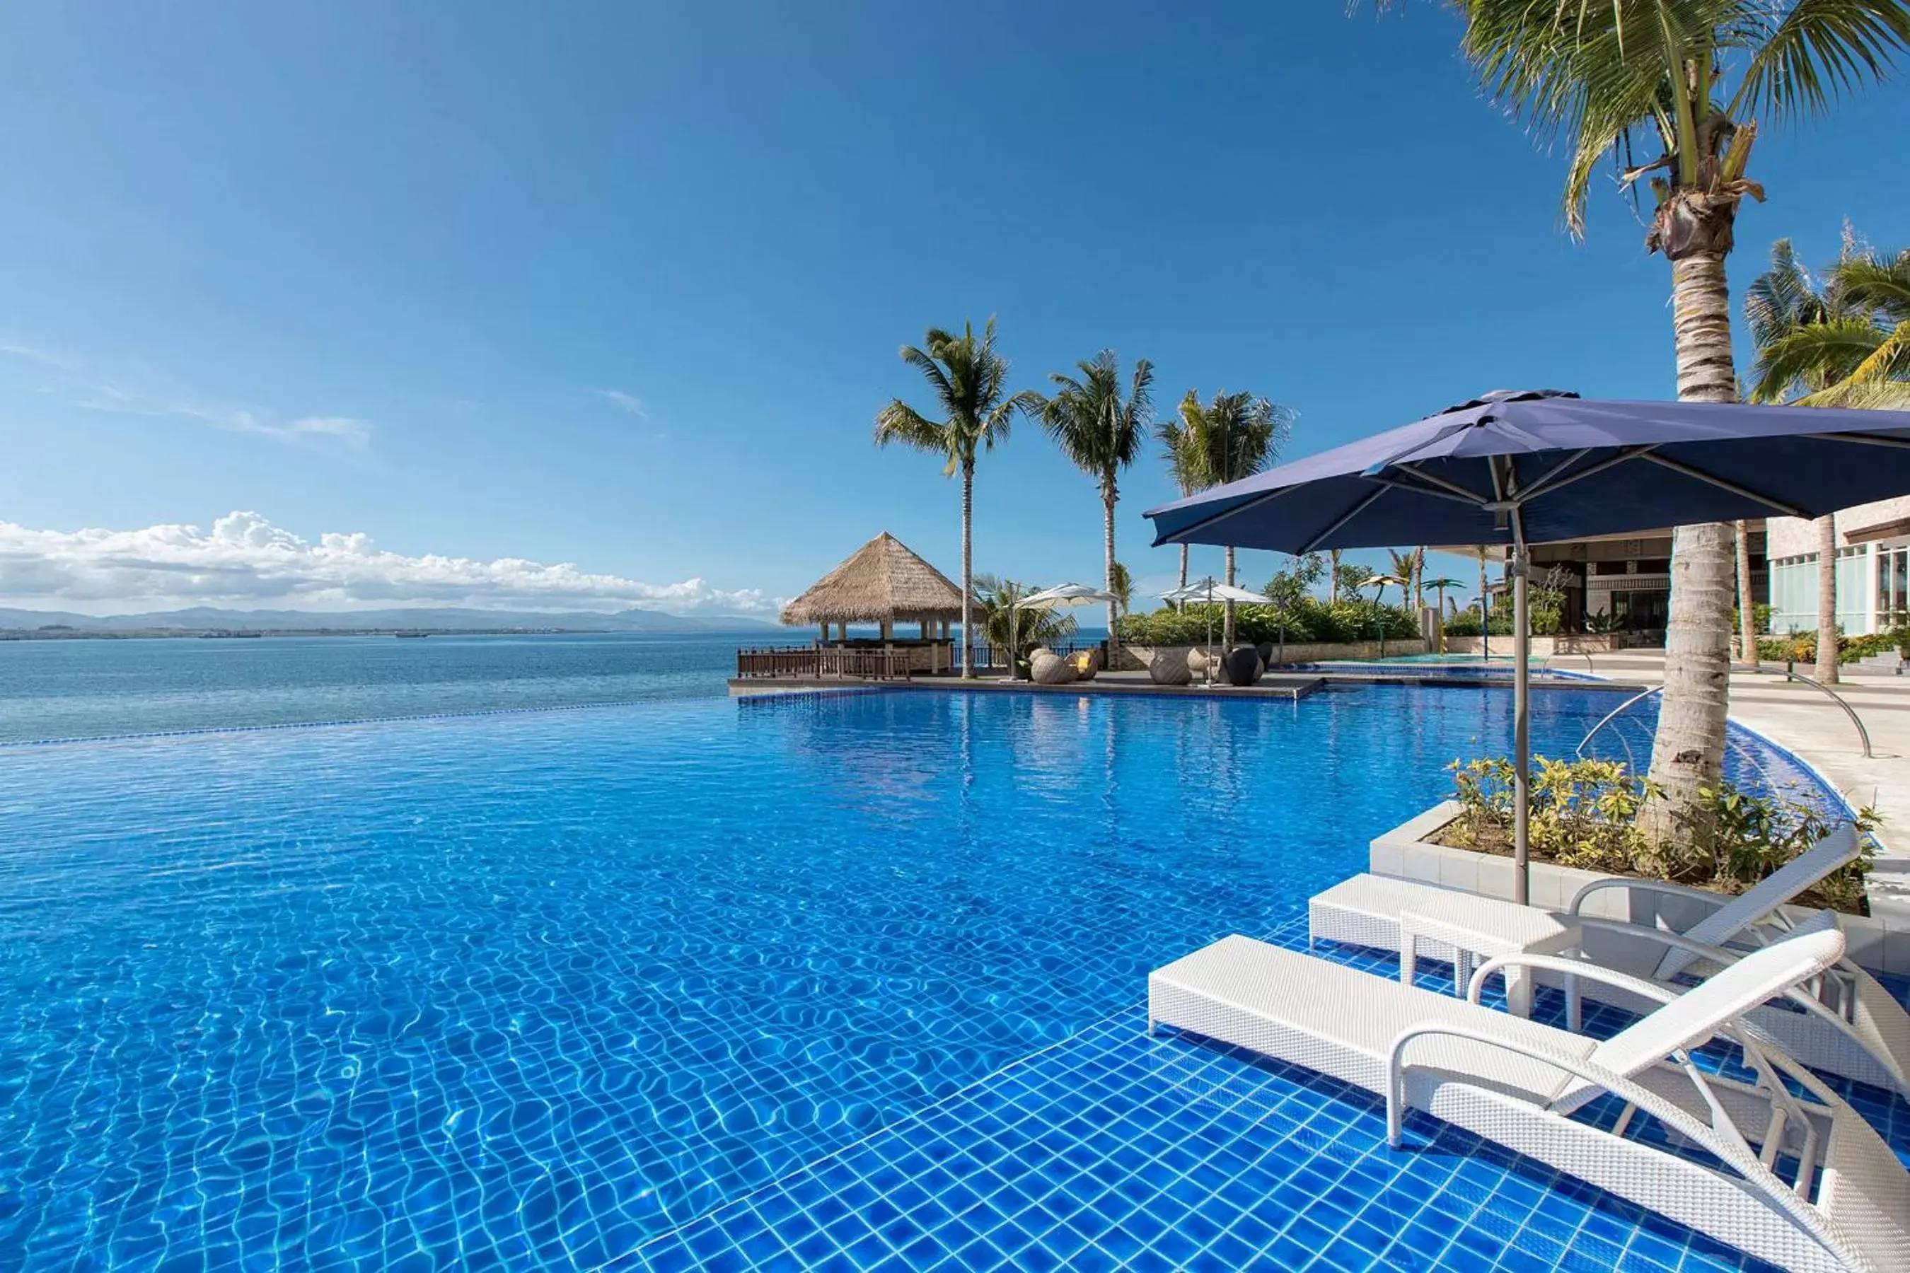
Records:
[[[1729,237],[1723,240],[1729,242]],[[1730,361],[1730,290],[1721,250],[1694,250],[1671,263],[1671,326],[1677,336],[1679,399],[1738,401],[1738,374]],[[1706,803],[1702,788],[1715,786],[1725,767],[1730,594],[1730,523],[1677,527],[1671,536],[1666,689],[1650,765],[1650,779],[1662,794],[1639,813],[1646,834],[1660,842],[1692,842]]]

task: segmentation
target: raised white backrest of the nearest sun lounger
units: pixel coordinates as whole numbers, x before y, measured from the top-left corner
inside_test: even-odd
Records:
[[[1843,933],[1837,929],[1771,943],[1612,1034],[1593,1048],[1591,1063],[1625,1076],[1646,1071],[1679,1048],[1702,1044],[1751,1008],[1809,981],[1841,958]],[[1597,1094],[1595,1084],[1568,1086],[1555,1105],[1560,1113],[1570,1113]]]

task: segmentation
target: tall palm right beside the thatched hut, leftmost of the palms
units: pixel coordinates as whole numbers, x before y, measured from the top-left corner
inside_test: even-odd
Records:
[[[995,319],[976,340],[974,324],[961,336],[940,326],[928,328],[923,347],[902,345],[902,361],[923,374],[934,389],[945,420],[928,420],[900,397],[875,412],[875,445],[902,443],[944,456],[942,475],[961,471],[961,674],[974,678],[974,458],[1008,439],[1014,412],[1035,410],[1041,395],[1029,389],[1010,395],[1008,361],[995,353]]]

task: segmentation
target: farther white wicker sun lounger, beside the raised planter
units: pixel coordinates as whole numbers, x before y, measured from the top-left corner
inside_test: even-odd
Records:
[[[1857,853],[1855,828],[1841,826],[1736,897],[1614,876],[1581,887],[1564,914],[1585,929],[1585,958],[1635,977],[1671,983],[1677,991],[1677,977],[1736,962],[1748,949],[1790,933],[1793,926],[1784,916],[1784,903],[1849,865]],[[1671,899],[1687,910],[1708,914],[1683,931],[1585,914],[1587,899],[1606,889]],[[1450,889],[1390,876],[1352,876],[1308,903],[1310,931],[1316,939],[1396,950],[1398,916],[1429,895],[1450,895]],[[1836,916],[1822,912],[1809,924],[1836,926]],[[1650,1006],[1624,987],[1602,991],[1599,985],[1587,987],[1591,998],[1622,1008]],[[1572,1006],[1576,1010],[1576,1000]],[[1790,994],[1786,1004],[1751,1012],[1748,1023],[1767,1044],[1795,1061],[1910,1097],[1910,1012],[1851,958],[1841,958],[1826,975]],[[1572,1025],[1576,1029],[1578,1021]]]

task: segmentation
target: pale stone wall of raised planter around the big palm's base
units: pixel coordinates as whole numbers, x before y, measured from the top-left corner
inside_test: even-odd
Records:
[[[1375,876],[1421,880],[1425,884],[1511,901],[1511,857],[1432,844],[1432,836],[1455,817],[1459,817],[1459,803],[1446,800],[1411,821],[1375,836],[1368,849],[1368,870]],[[1612,876],[1599,870],[1559,866],[1557,863],[1532,863],[1528,878],[1532,905],[1559,910],[1570,905],[1572,897],[1593,880],[1608,880]],[[1876,880],[1876,876],[1872,878]],[[1883,882],[1879,880],[1878,884]],[[1801,907],[1786,907],[1784,910],[1795,920],[1811,914]],[[1673,928],[1683,928],[1692,918],[1677,914],[1675,905],[1660,908],[1646,895],[1639,895],[1639,907],[1633,908],[1631,893],[1625,889],[1601,889],[1593,893],[1585,905],[1585,914],[1629,920],[1633,924],[1652,924],[1664,916]],[[1910,977],[1910,914],[1904,914],[1900,907],[1876,897],[1874,889],[1872,914],[1839,914],[1837,920],[1843,926],[1845,949],[1853,960],[1872,971]]]

